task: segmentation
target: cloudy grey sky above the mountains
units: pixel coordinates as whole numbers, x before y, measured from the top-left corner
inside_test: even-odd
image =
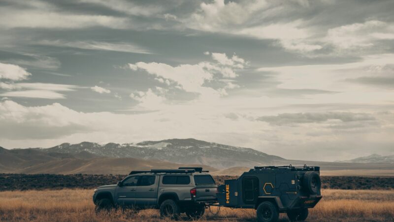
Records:
[[[1,0],[0,146],[394,154],[392,0]]]

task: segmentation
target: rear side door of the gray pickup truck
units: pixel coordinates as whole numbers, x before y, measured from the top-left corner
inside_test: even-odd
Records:
[[[140,177],[136,191],[136,205],[142,207],[154,206],[157,200],[159,176],[143,175]]]

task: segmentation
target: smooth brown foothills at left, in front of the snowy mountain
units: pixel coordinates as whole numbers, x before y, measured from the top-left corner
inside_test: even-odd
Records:
[[[129,174],[131,170],[202,166],[209,171],[217,169],[200,164],[177,164],[161,160],[98,157],[79,151],[75,154],[43,152],[40,149],[5,149],[0,147],[0,173],[23,174]]]

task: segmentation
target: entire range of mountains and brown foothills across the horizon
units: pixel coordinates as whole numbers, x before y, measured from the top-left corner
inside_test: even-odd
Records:
[[[131,170],[202,166],[217,175],[239,175],[253,166],[320,166],[322,170],[382,170],[390,163],[289,160],[252,149],[196,139],[145,141],[136,144],[83,142],[52,148],[0,147],[0,173],[128,174]]]

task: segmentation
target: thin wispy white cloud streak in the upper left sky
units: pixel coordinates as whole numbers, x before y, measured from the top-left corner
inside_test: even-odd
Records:
[[[51,45],[57,47],[71,47],[89,50],[104,50],[117,52],[130,52],[140,54],[152,54],[149,50],[138,45],[126,42],[111,43],[103,41],[64,41],[64,40],[42,40],[41,45]]]

